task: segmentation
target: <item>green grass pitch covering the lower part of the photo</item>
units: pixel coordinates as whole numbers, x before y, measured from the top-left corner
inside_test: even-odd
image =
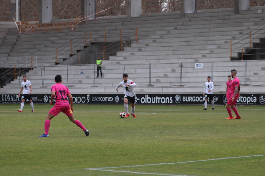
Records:
[[[38,136],[52,106],[34,106],[34,113],[29,103],[19,113],[19,104],[0,105],[0,175],[265,174],[264,106],[239,106],[242,119],[225,120],[224,106],[136,105],[137,118],[121,119],[123,105],[75,104],[74,116],[90,136],[60,113],[48,138]],[[262,156],[233,158],[251,155]],[[216,158],[228,159],[209,160]],[[185,161],[196,162],[177,163]],[[148,165],[158,163],[175,164]],[[118,167],[133,165],[143,166]],[[85,170],[102,167],[118,168]]]

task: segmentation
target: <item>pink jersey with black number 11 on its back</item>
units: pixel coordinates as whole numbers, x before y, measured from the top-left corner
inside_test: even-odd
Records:
[[[64,84],[54,84],[51,90],[55,91],[56,106],[69,106],[67,95],[70,94],[70,91]]]

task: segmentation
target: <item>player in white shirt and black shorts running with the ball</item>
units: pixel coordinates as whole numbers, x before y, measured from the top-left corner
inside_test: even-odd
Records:
[[[135,110],[135,94],[133,92],[133,86],[136,86],[135,82],[133,82],[132,80],[128,79],[128,75],[126,73],[124,73],[122,75],[123,77],[123,81],[120,82],[120,84],[117,85],[117,87],[115,88],[118,92],[118,88],[120,86],[124,87],[124,108],[126,111],[126,116],[125,117],[129,117],[129,106],[128,106],[128,100],[131,103],[131,109],[132,109],[132,116],[134,118],[136,118],[135,114],[134,114],[134,110]]]

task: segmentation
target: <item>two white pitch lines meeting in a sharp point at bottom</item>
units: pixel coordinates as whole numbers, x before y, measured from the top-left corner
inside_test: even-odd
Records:
[[[246,158],[246,157],[259,157],[259,156],[264,156],[264,155],[237,156],[237,157],[215,158],[215,159],[207,159],[207,160],[182,161],[182,162],[175,162],[175,163],[158,163],[158,164],[144,164],[144,165],[118,166],[118,167],[86,168],[85,170],[98,170],[98,171],[108,171],[108,172],[126,172],[126,173],[133,173],[133,174],[150,174],[150,175],[167,175],[167,176],[188,176],[188,175],[160,174],[160,173],[147,173],[147,172],[131,172],[131,171],[121,171],[121,170],[108,170],[108,169],[109,168],[124,168],[124,167],[140,167],[140,166],[178,164],[178,163],[193,163],[193,162],[201,162],[201,161],[226,160],[226,159],[233,159],[233,158]]]

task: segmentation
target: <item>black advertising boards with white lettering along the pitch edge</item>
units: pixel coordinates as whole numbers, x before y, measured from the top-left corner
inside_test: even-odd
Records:
[[[72,94],[79,104],[123,104],[123,94]],[[49,103],[50,94],[32,94],[34,103]],[[27,100],[26,100],[27,101]],[[225,94],[213,94],[214,104],[226,104]],[[135,94],[135,104],[203,104],[203,94]],[[1,94],[0,103],[21,103],[17,94]],[[265,94],[240,94],[237,104],[265,105]]]

